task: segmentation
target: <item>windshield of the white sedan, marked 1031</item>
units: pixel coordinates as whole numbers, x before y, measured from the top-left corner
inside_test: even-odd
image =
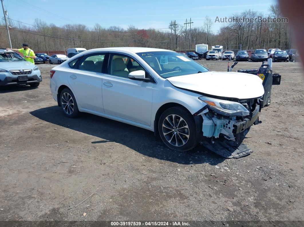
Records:
[[[152,51],[136,53],[162,78],[209,72],[201,64],[181,54],[171,51]]]

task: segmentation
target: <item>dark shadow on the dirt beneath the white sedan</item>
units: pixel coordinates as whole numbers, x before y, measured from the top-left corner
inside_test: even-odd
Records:
[[[88,113],[82,113],[77,119],[71,119],[64,115],[60,107],[50,106],[34,110],[30,114],[43,121],[102,139],[91,142],[92,145],[116,142],[152,158],[186,165],[202,163],[216,165],[225,160],[224,157],[208,151],[201,145],[188,152],[173,151],[168,149],[154,132]]]

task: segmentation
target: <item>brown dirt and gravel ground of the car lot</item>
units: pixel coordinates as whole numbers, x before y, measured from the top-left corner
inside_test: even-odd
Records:
[[[273,64],[282,82],[244,140],[254,152],[229,160],[202,146],[173,152],[153,132],[95,115],[68,119],[50,93],[53,65],[38,67],[38,88],[0,88],[0,220],[304,220],[299,63]]]

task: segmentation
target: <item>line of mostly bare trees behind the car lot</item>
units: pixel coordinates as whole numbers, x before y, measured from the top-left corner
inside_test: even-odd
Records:
[[[271,5],[267,14],[247,10],[233,17],[257,18],[258,16],[282,17],[277,5]],[[288,23],[271,22],[230,22],[222,25],[219,31],[212,30],[214,21],[206,16],[204,24],[189,26],[171,21],[168,29],[139,29],[129,25],[124,29],[119,26],[102,27],[96,23],[94,27],[83,24],[66,24],[56,26],[47,24],[36,18],[29,25],[8,19],[13,48],[29,43],[33,50],[64,51],[67,48],[83,47],[86,49],[103,47],[150,47],[171,50],[194,50],[196,44],[223,45],[224,49],[256,49],[256,48],[292,48],[291,32]],[[0,47],[8,46],[5,23],[0,23]]]

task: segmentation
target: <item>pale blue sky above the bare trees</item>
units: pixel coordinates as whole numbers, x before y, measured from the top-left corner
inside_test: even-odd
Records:
[[[98,22],[102,27],[111,25],[127,28],[167,28],[171,20],[183,24],[192,18],[193,26],[202,26],[206,15],[229,17],[234,13],[252,9],[268,13],[275,0],[255,1],[181,1],[181,0],[4,0],[9,17],[33,24],[35,18],[57,26],[67,23],[81,23],[93,27]],[[31,5],[29,5],[31,4]],[[45,10],[42,11],[41,9]],[[31,13],[29,13],[31,12]],[[52,13],[52,14],[51,14]],[[217,32],[221,23],[214,23]]]

